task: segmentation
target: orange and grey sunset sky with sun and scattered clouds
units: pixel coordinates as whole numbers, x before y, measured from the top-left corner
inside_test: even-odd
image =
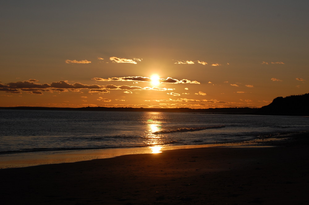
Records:
[[[309,1],[1,1],[0,106],[261,107],[309,92]]]

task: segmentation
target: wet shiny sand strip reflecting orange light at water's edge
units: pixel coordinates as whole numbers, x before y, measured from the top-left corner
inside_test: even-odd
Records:
[[[306,133],[306,132],[304,132]],[[59,164],[88,161],[94,159],[114,158],[129,154],[154,154],[165,150],[191,149],[202,147],[265,147],[273,146],[279,142],[293,139],[292,135],[277,135],[265,139],[253,139],[250,141],[224,143],[224,144],[205,144],[205,145],[178,145],[178,146],[153,146],[153,147],[130,147],[130,148],[108,148],[93,150],[67,150],[67,151],[44,151],[27,152],[16,154],[0,155],[0,169],[20,168],[28,166],[38,166],[44,164]],[[298,133],[296,135],[300,135]],[[295,135],[295,134],[294,134]]]

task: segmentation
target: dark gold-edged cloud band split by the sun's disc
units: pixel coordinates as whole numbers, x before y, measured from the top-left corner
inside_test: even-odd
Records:
[[[131,77],[113,77],[113,78],[92,78],[91,80],[98,80],[98,81],[140,81],[140,82],[151,82],[151,78],[149,77],[142,77],[142,76],[131,76]],[[187,79],[183,80],[176,80],[170,77],[167,77],[167,79],[160,78],[159,79],[160,83],[172,83],[172,84],[184,84],[184,83],[192,83],[192,84],[200,84],[197,81],[191,81]]]

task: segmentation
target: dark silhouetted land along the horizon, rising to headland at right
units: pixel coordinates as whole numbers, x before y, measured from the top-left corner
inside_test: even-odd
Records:
[[[26,109],[26,110],[82,110],[82,111],[139,111],[139,112],[190,112],[190,113],[214,113],[214,114],[257,114],[257,115],[300,115],[309,116],[309,93],[303,95],[291,95],[276,97],[269,105],[261,108],[132,108],[132,107],[82,107],[82,108],[58,108],[58,107],[0,107],[0,109]]]

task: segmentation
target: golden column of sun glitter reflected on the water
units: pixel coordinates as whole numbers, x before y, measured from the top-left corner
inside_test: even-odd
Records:
[[[150,145],[151,153],[160,153],[162,146],[160,144],[163,143],[162,135],[154,134],[155,132],[160,132],[162,130],[160,118],[162,113],[159,112],[147,112],[145,113],[144,119],[146,120],[147,130],[144,135],[146,137],[146,144]]]

